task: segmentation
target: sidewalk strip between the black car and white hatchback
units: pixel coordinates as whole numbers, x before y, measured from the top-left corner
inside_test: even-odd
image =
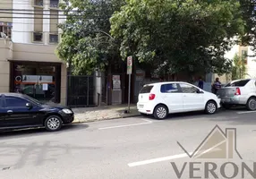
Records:
[[[135,105],[131,105],[130,114],[124,114],[124,110],[127,109],[127,105],[73,108],[73,123],[87,123],[140,115]]]

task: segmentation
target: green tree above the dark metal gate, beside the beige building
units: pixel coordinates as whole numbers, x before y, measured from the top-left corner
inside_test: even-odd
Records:
[[[64,0],[60,5],[66,21],[56,55],[73,66],[74,74],[90,74],[104,69],[118,46],[109,35],[109,18],[124,4],[123,0]]]

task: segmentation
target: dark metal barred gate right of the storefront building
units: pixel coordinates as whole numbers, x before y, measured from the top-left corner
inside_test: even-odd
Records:
[[[94,76],[67,76],[67,106],[94,107]]]

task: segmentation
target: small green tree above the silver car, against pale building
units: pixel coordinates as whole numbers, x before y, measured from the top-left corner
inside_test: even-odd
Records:
[[[235,55],[232,66],[232,80],[243,79],[246,75],[246,56]]]

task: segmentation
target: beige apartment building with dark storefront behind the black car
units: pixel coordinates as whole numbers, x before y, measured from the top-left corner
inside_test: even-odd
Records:
[[[59,0],[1,0],[0,92],[66,104],[66,64],[55,55],[64,21]],[[10,13],[12,12],[12,13]]]

